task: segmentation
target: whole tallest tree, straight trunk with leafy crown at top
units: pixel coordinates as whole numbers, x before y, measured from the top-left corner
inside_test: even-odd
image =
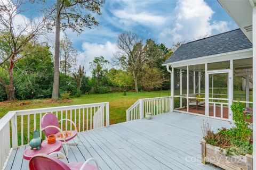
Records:
[[[101,15],[103,3],[104,0],[57,0],[50,8],[47,6],[47,26],[49,29],[55,27],[53,100],[59,98],[60,31],[69,28],[79,34],[84,27],[91,29],[98,25],[92,13]]]

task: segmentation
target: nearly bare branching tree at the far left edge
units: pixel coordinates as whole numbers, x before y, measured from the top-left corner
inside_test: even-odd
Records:
[[[7,80],[0,77],[0,84],[5,88],[7,99],[14,100],[14,73],[15,64],[24,55],[21,52],[26,45],[44,33],[45,20],[22,20],[19,26],[15,26],[18,16],[25,1],[0,1],[0,66],[8,72]]]

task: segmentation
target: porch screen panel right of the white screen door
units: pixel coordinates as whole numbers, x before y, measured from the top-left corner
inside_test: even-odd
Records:
[[[252,123],[252,58],[233,61],[233,102],[240,101],[244,108],[244,116]]]

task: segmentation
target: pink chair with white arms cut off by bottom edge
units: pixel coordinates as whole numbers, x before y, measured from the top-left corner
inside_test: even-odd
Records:
[[[99,163],[95,158],[90,158],[86,160],[85,163],[67,163],[67,159],[65,158],[64,162],[61,160],[54,158],[52,155],[61,155],[65,158],[61,152],[53,152],[50,155],[46,154],[37,154],[29,160],[29,169],[30,170],[98,170]],[[95,166],[89,164],[89,162],[93,161]]]

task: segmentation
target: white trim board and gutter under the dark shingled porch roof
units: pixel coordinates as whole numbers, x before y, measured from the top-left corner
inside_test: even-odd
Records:
[[[251,57],[252,57],[252,48],[237,50],[235,52],[229,52],[229,53],[191,58],[189,60],[183,60],[183,61],[167,63],[162,65],[163,66],[170,65],[171,67],[181,67],[181,66],[187,66],[187,65],[215,63],[215,62],[238,60],[238,59],[251,58]]]

